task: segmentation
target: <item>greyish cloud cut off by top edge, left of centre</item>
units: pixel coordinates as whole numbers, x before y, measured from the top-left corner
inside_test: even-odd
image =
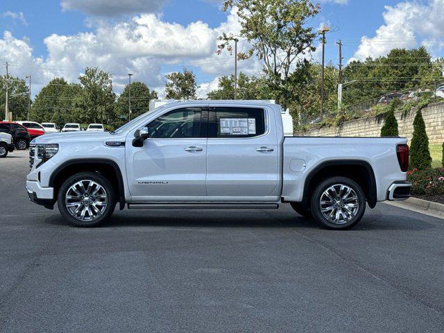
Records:
[[[122,14],[159,11],[167,0],[62,0],[62,10],[80,10],[89,15],[120,16]]]

